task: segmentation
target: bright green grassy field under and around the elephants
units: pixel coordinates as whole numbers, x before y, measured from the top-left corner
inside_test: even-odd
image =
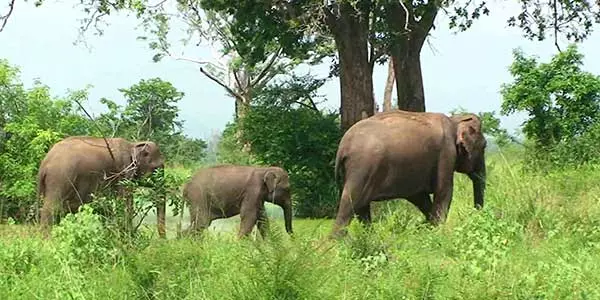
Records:
[[[380,203],[337,242],[331,220],[295,219],[290,238],[278,208],[266,241],[237,241],[238,218],[202,240],[128,244],[85,213],[51,241],[5,225],[0,299],[600,299],[600,166],[532,175],[519,157],[490,155],[482,211],[457,174],[446,224]]]

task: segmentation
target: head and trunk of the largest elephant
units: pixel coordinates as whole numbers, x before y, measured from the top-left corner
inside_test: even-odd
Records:
[[[456,171],[467,174],[473,182],[474,206],[483,207],[485,191],[485,148],[481,119],[475,114],[451,117],[456,125]]]

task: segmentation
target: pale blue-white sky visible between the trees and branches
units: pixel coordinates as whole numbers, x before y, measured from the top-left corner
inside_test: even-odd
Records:
[[[506,25],[506,19],[515,15],[519,7],[516,2],[505,2],[490,2],[490,16],[483,16],[471,29],[457,34],[448,29],[448,17],[443,13],[438,15],[436,29],[421,52],[428,111],[448,113],[460,106],[471,112],[499,112],[501,85],[511,81],[508,67],[513,49],[521,48],[542,61],[556,54],[553,39],[528,41],[519,29]],[[26,86],[31,86],[37,78],[56,96],[92,84],[89,101],[84,105],[92,115],[104,110],[100,98],[123,104],[125,99],[119,88],[130,87],[141,79],[160,77],[185,93],[179,108],[187,135],[209,139],[232,120],[233,99],[200,73],[197,64],[172,58],[152,61],[154,53],[147,42],[136,40],[143,31],[136,29],[135,16],[110,16],[102,36],[86,36],[87,47],[73,44],[82,17],[81,8],[70,1],[44,1],[39,8],[33,2],[17,1],[9,23],[0,32],[0,58],[20,68]],[[199,60],[219,59],[218,45],[181,46],[177,40],[183,35],[177,34],[183,29],[173,28],[176,31],[171,41],[175,46],[173,53]],[[600,49],[599,37],[600,34],[594,33],[579,45],[585,56],[584,69],[594,74],[600,74],[600,59],[592,55],[594,49],[596,53]],[[567,42],[561,41],[561,46],[565,48]],[[328,69],[328,65],[321,65],[311,67],[310,72],[325,76]],[[376,66],[373,82],[380,105],[386,77],[387,65]],[[331,79],[319,92],[327,99],[324,107],[339,108],[338,78]],[[525,117],[523,113],[500,116],[501,126],[512,133]]]

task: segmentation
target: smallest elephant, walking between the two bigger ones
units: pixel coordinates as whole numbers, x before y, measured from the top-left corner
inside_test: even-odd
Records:
[[[212,220],[239,214],[238,238],[250,234],[255,224],[264,238],[268,228],[265,201],[283,209],[285,229],[292,234],[290,183],[282,168],[236,165],[203,168],[185,184],[183,197],[190,210],[190,226],[185,234],[199,233]]]

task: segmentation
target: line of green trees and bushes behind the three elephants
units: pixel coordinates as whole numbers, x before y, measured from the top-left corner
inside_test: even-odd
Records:
[[[571,46],[547,63],[515,51],[510,72],[513,81],[502,85],[500,113],[526,112],[523,136],[501,128],[496,112],[480,112],[488,152],[519,147],[524,150],[524,171],[534,172],[600,163],[600,78],[583,70],[583,56],[577,48]],[[26,89],[18,69],[2,61],[2,217],[33,217],[39,162],[53,143],[70,135],[151,139],[160,143],[168,167],[280,166],[290,174],[295,216],[333,216],[339,193],[333,165],[343,131],[339,112],[319,107],[324,99],[317,90],[325,81],[292,74],[255,90],[252,102],[236,110],[236,117],[215,141],[212,151],[216,153],[207,161],[207,143],[182,133],[177,102],[183,93],[169,82],[140,80],[121,89],[125,105],[101,99],[107,109],[92,120],[79,106],[87,101],[86,90],[56,98],[40,82]]]

